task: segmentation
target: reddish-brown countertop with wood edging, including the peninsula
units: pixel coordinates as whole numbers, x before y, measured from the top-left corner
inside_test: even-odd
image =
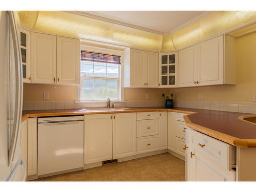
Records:
[[[164,107],[152,108],[129,108],[129,110],[117,111],[84,111],[77,110],[39,110],[23,111],[22,121],[29,117],[49,117],[67,115],[88,115],[106,113],[136,113],[136,112],[157,112],[170,111],[186,113],[184,116],[186,125],[191,129],[214,137],[226,143],[240,147],[256,147],[256,125],[243,120],[243,116],[250,114],[211,111],[187,108],[167,109]]]

